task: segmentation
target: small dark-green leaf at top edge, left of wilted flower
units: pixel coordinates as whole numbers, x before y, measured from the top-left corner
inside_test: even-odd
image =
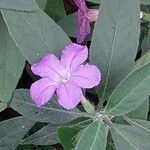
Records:
[[[48,0],[46,13],[56,22],[66,16],[63,0]]]

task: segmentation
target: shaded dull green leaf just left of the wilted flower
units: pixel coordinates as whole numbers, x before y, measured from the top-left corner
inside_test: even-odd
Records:
[[[77,20],[76,13],[63,17],[58,21],[58,25],[66,32],[70,37],[76,37],[77,34]]]

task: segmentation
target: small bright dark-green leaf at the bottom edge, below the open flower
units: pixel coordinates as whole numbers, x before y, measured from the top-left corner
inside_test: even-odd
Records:
[[[79,130],[69,127],[58,128],[58,137],[65,150],[74,148],[74,138]]]

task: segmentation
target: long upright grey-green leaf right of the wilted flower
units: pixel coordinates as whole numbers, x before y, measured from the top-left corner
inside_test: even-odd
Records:
[[[134,64],[140,35],[139,12],[137,0],[102,0],[90,50],[91,63],[102,72],[98,91],[102,101]]]

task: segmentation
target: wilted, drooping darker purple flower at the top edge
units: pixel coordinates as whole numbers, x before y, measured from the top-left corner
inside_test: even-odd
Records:
[[[74,0],[78,6],[78,35],[77,43],[82,43],[87,35],[91,32],[90,23],[96,21],[98,17],[97,9],[88,9],[85,0]]]

